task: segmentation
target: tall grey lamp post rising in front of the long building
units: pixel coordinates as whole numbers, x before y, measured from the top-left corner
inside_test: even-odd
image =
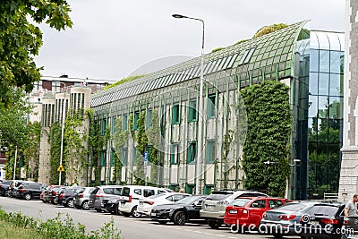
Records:
[[[199,91],[199,118],[198,118],[198,157],[196,159],[196,170],[195,170],[195,194],[200,194],[200,174],[201,174],[201,161],[202,161],[202,124],[203,118],[200,115],[204,114],[203,111],[203,85],[204,85],[204,29],[205,23],[199,18],[192,18],[183,16],[181,14],[173,14],[174,18],[186,18],[196,21],[201,21],[202,23],[202,39],[201,39],[201,55],[200,55],[200,91]]]

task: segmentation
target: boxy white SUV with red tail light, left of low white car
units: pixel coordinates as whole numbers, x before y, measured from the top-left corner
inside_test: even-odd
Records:
[[[141,213],[137,212],[138,205],[141,199],[145,199],[151,195],[173,192],[170,189],[150,187],[150,186],[140,186],[140,185],[127,185],[124,186],[120,203],[118,205],[119,211],[124,215],[124,217],[139,218]]]

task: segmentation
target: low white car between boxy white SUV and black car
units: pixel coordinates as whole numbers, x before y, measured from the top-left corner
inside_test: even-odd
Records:
[[[182,192],[167,192],[165,194],[153,195],[146,199],[141,199],[137,211],[143,215],[150,216],[151,209],[153,209],[154,206],[170,204],[189,196],[190,194]]]

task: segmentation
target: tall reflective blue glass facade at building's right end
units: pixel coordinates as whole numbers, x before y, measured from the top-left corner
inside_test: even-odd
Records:
[[[343,33],[311,32],[309,198],[338,191],[343,140],[344,43]]]

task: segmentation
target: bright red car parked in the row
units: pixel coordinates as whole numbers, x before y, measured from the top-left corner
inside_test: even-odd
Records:
[[[290,202],[287,199],[269,197],[243,197],[226,206],[224,223],[232,229],[256,229],[260,225],[262,214]]]

